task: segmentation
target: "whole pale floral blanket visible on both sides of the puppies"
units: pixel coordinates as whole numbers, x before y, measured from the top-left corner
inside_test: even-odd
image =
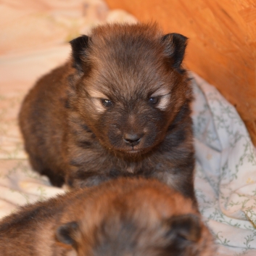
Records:
[[[0,3],[5,14],[0,17],[0,218],[19,205],[65,192],[33,172],[23,151],[17,114],[29,88],[41,75],[65,62],[70,37],[88,32],[99,22],[136,21],[122,10],[110,11],[101,0],[36,3]],[[55,37],[49,36],[49,26]],[[46,41],[47,45],[41,44]],[[191,76],[200,210],[215,235],[217,255],[255,256],[255,148],[236,109],[216,88],[196,74]]]

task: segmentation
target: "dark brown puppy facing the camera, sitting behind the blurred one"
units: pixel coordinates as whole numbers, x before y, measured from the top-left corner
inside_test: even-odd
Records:
[[[159,178],[194,199],[187,38],[157,25],[102,25],[71,41],[72,59],[38,80],[20,127],[51,183]]]

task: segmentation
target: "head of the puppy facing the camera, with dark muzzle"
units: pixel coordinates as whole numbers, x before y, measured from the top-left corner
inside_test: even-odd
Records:
[[[185,36],[157,25],[104,25],[70,42],[80,74],[75,107],[108,149],[149,152],[191,100]]]

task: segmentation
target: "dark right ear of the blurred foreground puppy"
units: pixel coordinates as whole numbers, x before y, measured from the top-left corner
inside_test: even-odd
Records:
[[[167,221],[167,224],[169,231],[166,236],[172,239],[175,236],[197,242],[201,237],[202,227],[197,215],[186,214],[173,216]]]

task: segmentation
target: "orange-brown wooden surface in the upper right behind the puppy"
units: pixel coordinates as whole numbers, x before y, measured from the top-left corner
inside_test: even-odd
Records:
[[[106,0],[189,37],[186,67],[234,104],[256,145],[255,0]]]

